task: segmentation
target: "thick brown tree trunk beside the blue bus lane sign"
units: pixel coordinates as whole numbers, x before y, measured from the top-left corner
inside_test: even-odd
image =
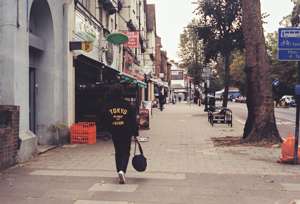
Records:
[[[271,73],[260,17],[259,0],[243,0],[242,29],[245,39],[248,117],[243,142],[281,143],[275,122]],[[273,141],[272,141],[273,140]]]

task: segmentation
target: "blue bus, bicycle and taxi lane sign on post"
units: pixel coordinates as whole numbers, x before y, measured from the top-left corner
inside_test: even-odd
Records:
[[[300,61],[300,28],[278,29],[278,60]]]

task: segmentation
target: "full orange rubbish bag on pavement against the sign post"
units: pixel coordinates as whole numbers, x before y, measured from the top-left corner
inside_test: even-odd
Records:
[[[282,156],[276,162],[294,164],[295,137],[291,133],[287,134],[287,138],[282,143],[281,154]],[[299,147],[298,147],[297,164],[300,164]]]

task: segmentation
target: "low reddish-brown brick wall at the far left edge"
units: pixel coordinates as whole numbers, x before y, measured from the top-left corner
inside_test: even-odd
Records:
[[[18,138],[20,107],[0,105],[0,110],[8,110],[7,126],[0,129],[0,172],[18,163]]]

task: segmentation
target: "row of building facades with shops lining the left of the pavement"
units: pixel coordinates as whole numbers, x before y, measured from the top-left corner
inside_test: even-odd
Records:
[[[105,85],[136,85],[127,99],[137,108],[152,101],[155,86],[168,91],[170,64],[155,23],[146,0],[0,2],[0,104],[20,106],[21,149],[32,150],[22,158],[34,157],[38,144],[69,142],[73,123],[97,122]],[[130,41],[111,43],[114,33]]]

